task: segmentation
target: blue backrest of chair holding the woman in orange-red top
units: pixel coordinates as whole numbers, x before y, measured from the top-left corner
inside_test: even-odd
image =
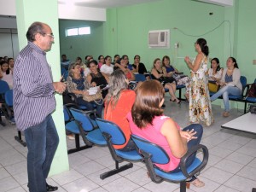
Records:
[[[114,145],[122,145],[126,142],[125,134],[118,125],[108,120],[99,118],[96,118],[96,123],[102,131],[102,134],[105,132],[111,136],[111,143]]]

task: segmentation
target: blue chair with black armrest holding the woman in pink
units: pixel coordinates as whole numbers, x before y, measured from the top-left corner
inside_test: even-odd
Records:
[[[179,164],[181,167],[180,172],[164,172],[157,166],[154,166],[154,164],[166,164],[170,161],[166,151],[160,146],[151,143],[142,137],[131,135],[131,138],[134,143],[136,143],[137,150],[143,156],[148,169],[148,175],[154,183],[161,183],[164,180],[172,183],[180,183],[180,191],[185,192],[186,179],[198,174],[205,166],[207,166],[209,156],[208,149],[206,146],[199,144],[194,148],[191,148],[187,154],[183,156]],[[202,149],[203,151],[203,160],[201,161],[198,158],[195,158],[194,162],[188,168],[186,168],[185,165],[189,156],[196,153],[196,151],[199,149]]]

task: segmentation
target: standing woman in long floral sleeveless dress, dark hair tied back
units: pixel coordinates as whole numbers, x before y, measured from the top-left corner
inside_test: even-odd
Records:
[[[189,91],[189,121],[190,123],[205,122],[207,126],[213,122],[212,105],[208,90],[207,56],[209,48],[204,38],[198,38],[195,42],[195,50],[198,53],[195,61],[185,57],[191,72],[191,89]]]

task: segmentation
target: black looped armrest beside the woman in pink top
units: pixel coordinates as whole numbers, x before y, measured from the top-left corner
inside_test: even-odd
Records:
[[[189,172],[187,172],[186,162],[189,159],[189,157],[192,154],[195,154],[199,149],[203,150],[203,160],[201,161],[201,165],[196,167],[195,170],[193,170],[192,172],[189,173]],[[183,172],[183,175],[185,177],[189,178],[189,177],[194,176],[195,173],[200,172],[205,166],[207,166],[208,158],[209,158],[209,152],[208,152],[208,149],[206,146],[199,144],[199,145],[196,145],[196,146],[190,148],[189,151],[180,160],[180,167]]]

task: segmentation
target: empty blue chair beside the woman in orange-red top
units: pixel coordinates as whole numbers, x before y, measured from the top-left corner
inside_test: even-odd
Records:
[[[80,135],[87,146],[91,147],[93,144],[99,146],[107,145],[102,132],[98,129],[96,121],[90,119],[90,114],[95,114],[94,112],[84,112],[77,108],[70,108],[69,110],[73,115],[76,126],[72,125],[72,127],[69,127],[67,125],[67,131],[71,131],[75,135]]]

